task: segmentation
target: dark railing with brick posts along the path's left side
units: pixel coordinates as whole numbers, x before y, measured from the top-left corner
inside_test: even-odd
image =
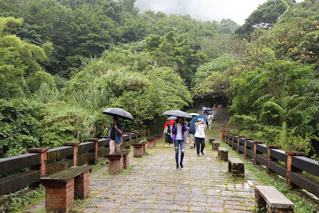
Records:
[[[141,140],[147,130],[133,131],[123,135],[122,147]],[[27,171],[0,179],[0,195],[29,185],[39,185],[39,178],[74,165],[96,164],[109,153],[108,138],[89,138],[86,142],[64,143],[57,148],[28,148],[29,153],[0,158],[0,174],[8,174],[27,168]]]

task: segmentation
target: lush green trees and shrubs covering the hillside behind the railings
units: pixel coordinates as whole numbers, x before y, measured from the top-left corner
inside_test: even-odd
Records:
[[[101,137],[106,107],[158,130],[218,98],[241,134],[318,158],[319,0],[269,0],[242,26],[134,4],[0,0],[0,157]]]

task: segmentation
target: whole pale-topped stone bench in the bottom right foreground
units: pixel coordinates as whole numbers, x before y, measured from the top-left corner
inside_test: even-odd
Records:
[[[294,212],[295,204],[274,186],[255,185],[255,201],[259,209],[266,206],[267,212]]]

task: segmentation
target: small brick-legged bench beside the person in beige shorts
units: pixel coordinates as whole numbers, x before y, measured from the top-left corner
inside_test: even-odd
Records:
[[[129,167],[128,154],[130,150],[121,149],[106,154],[108,159],[108,172],[120,173],[123,169]]]

